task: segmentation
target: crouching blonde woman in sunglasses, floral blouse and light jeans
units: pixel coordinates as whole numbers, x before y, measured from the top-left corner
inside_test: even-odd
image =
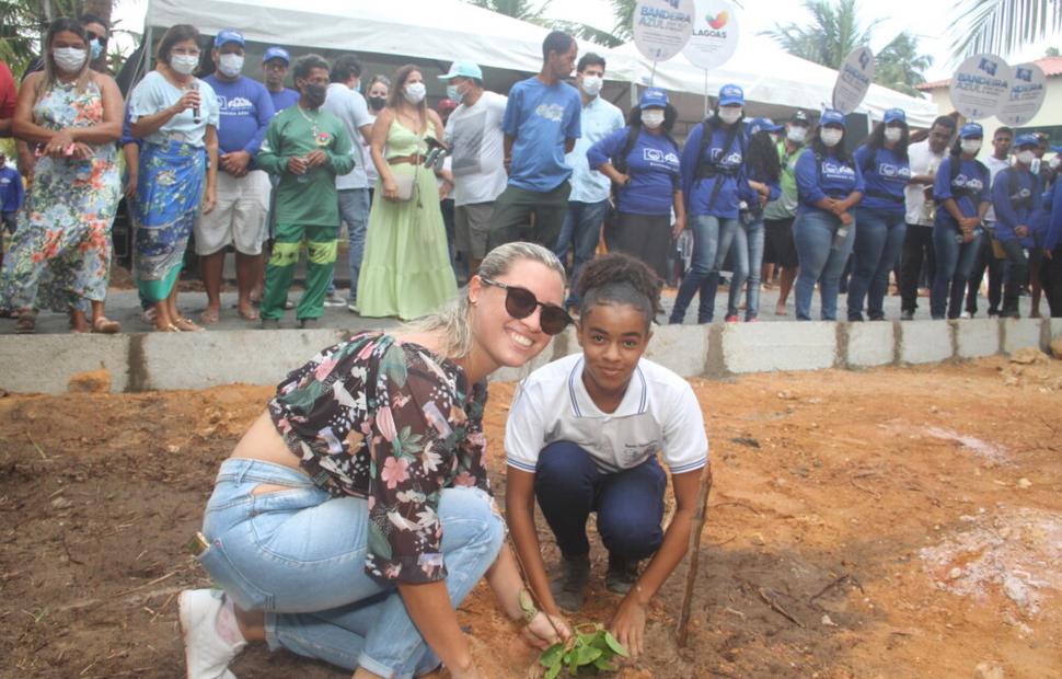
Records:
[[[222,463],[199,560],[221,590],[180,598],[188,677],[231,676],[253,641],[354,677],[446,664],[477,678],[453,608],[481,577],[529,643],[567,635],[505,545],[483,436],[486,377],[570,322],[549,250],[487,253],[466,290],[394,334],[361,332],[277,388]]]

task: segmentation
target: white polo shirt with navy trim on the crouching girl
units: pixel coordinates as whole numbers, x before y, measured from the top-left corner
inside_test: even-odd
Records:
[[[667,368],[643,358],[614,413],[602,413],[582,383],[582,354],[545,365],[528,376],[512,399],[505,427],[506,462],[534,472],[539,453],[570,441],[612,473],[663,452],[672,474],[704,467],[708,438],[693,388]]]

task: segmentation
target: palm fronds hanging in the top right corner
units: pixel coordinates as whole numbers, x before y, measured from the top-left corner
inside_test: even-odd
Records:
[[[1006,58],[1015,49],[1062,31],[1059,0],[957,0],[951,24],[955,60],[991,51]]]

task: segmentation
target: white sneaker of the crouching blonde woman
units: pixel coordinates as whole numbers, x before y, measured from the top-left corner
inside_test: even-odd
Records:
[[[229,663],[247,643],[231,645],[218,632],[222,596],[217,589],[188,589],[177,599],[188,679],[235,679]]]

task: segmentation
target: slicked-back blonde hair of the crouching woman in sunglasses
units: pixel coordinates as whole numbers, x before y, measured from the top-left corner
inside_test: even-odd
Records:
[[[513,264],[521,260],[530,260],[544,264],[565,279],[564,266],[557,256],[547,248],[535,243],[513,242],[498,245],[487,253],[480,264],[480,276],[497,278],[509,273]],[[435,313],[411,321],[405,330],[411,333],[440,333],[442,335],[442,355],[448,358],[463,358],[472,352],[473,330],[469,322],[467,290],[460,290],[458,296],[439,308]]]

